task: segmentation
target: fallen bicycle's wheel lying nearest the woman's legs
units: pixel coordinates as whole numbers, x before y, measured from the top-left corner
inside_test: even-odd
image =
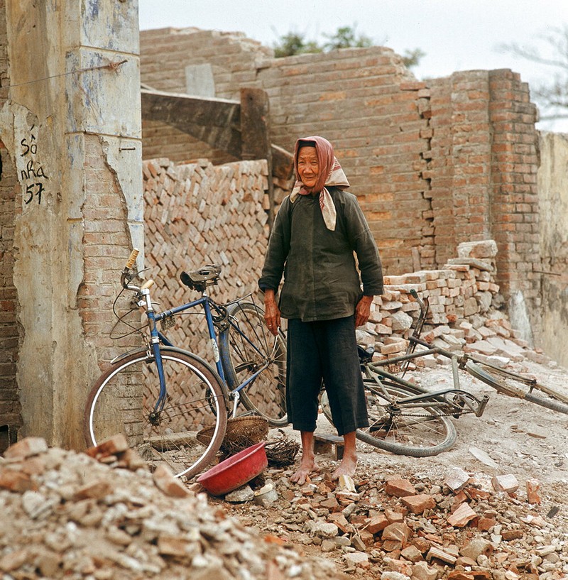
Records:
[[[427,401],[405,406],[399,403],[401,399],[419,393],[404,385],[382,384],[386,393],[375,381],[364,381],[370,425],[357,429],[357,439],[391,453],[412,457],[437,455],[452,447],[457,433],[449,417],[441,415]],[[322,410],[332,422],[325,393],[322,394]]]

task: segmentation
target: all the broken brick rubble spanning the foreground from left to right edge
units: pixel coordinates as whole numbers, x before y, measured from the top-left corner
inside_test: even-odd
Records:
[[[3,578],[567,577],[556,484],[521,487],[512,474],[459,468],[432,481],[372,464],[335,483],[323,466],[301,488],[290,470],[268,469],[209,498],[168,469],[151,474],[121,438],[89,454],[23,439],[0,459],[0,506],[11,522],[0,532]]]

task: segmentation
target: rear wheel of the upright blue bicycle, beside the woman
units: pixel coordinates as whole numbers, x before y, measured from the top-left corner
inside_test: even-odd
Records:
[[[227,309],[229,327],[219,336],[219,350],[231,389],[245,381],[241,400],[249,411],[273,427],[288,424],[286,415],[286,340],[283,332],[268,332],[264,312],[250,302]]]

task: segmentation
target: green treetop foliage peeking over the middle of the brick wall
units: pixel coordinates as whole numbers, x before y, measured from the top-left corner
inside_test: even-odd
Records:
[[[274,56],[283,58],[305,53],[329,53],[341,48],[368,48],[375,45],[372,38],[357,34],[355,28],[355,26],[341,26],[334,34],[324,34],[327,42],[322,45],[315,40],[306,40],[305,34],[290,32],[280,36],[278,42],[273,44]],[[415,67],[425,55],[426,53],[420,48],[405,50],[403,61],[406,67]]]

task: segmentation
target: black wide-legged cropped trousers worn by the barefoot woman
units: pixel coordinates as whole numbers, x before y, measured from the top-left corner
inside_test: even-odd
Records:
[[[355,317],[317,322],[288,320],[288,420],[298,431],[315,431],[322,380],[339,435],[368,427]]]

